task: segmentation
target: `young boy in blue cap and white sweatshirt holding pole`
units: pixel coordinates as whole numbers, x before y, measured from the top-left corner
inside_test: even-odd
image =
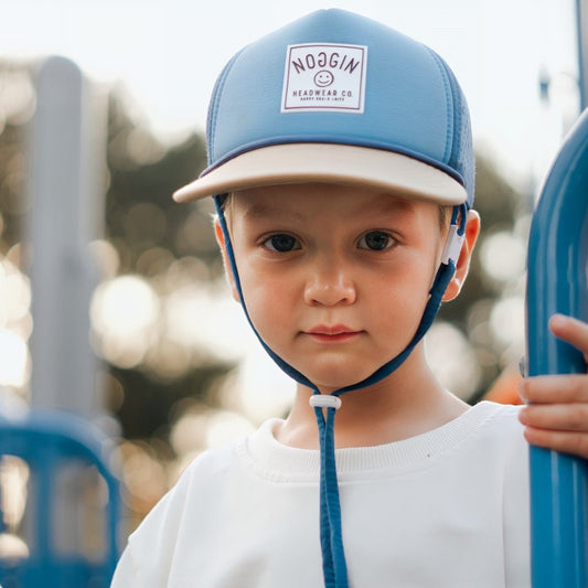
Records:
[[[233,295],[298,392],[286,420],[186,469],[113,586],[528,586],[523,434],[588,457],[588,376],[526,381],[518,411],[469,407],[427,365],[480,228],[448,66],[318,11],[228,63],[207,138],[175,199],[215,196]],[[587,325],[552,327],[588,353]]]

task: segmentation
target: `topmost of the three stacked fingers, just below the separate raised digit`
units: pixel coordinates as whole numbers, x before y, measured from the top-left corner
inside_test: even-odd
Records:
[[[588,403],[586,374],[554,374],[523,379],[518,394],[526,403]]]

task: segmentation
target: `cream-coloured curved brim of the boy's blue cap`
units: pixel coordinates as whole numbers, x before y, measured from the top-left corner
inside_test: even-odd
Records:
[[[173,194],[177,202],[285,183],[362,185],[443,205],[467,201],[463,185],[417,159],[370,147],[340,143],[281,143],[246,151]]]

